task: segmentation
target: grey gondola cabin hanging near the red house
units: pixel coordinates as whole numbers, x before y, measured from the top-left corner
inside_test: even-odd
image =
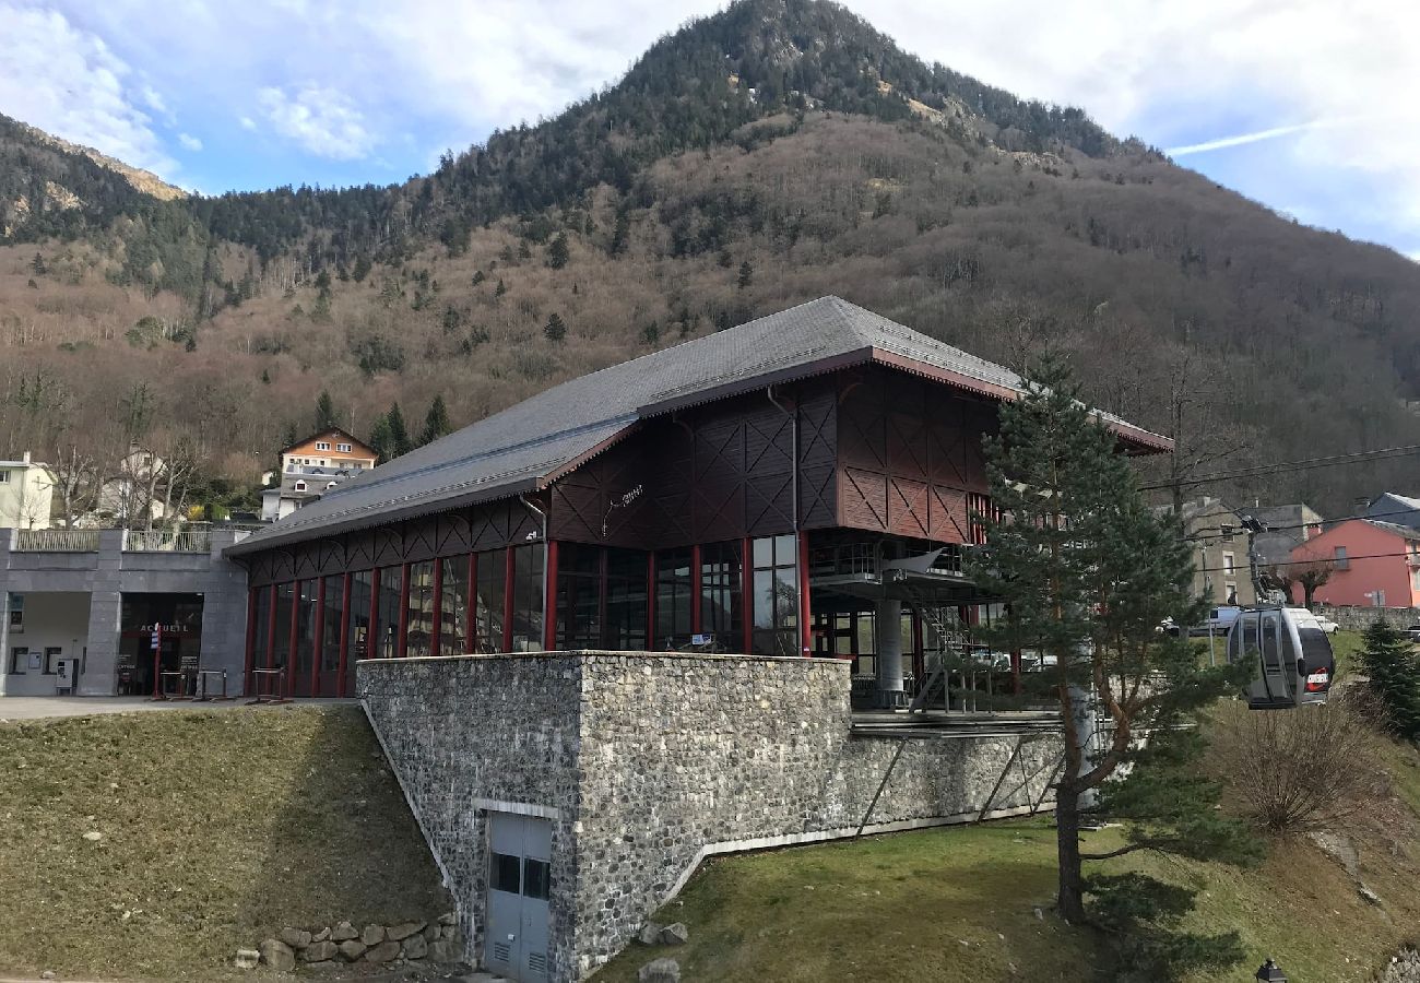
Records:
[[[1228,662],[1250,659],[1254,710],[1289,710],[1325,703],[1336,675],[1331,639],[1306,608],[1250,608],[1228,629]]]

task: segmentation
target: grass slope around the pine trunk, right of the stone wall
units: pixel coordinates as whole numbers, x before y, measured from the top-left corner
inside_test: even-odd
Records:
[[[1294,983],[1367,983],[1420,923],[1420,754],[1390,746],[1386,767],[1396,800],[1349,831],[1379,906],[1305,838],[1274,842],[1248,871],[1153,854],[1095,867],[1197,888],[1189,925],[1241,933],[1247,963],[1194,983],[1251,979],[1268,956]],[[1119,842],[1112,830],[1086,834],[1086,849]],[[662,955],[680,962],[686,980],[733,983],[1110,979],[1093,935],[1052,913],[1054,892],[1048,818],[727,857],[657,915],[689,925],[689,945],[632,946],[598,979],[630,983]]]

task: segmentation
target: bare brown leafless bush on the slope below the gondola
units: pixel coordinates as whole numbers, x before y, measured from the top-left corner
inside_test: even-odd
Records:
[[[1387,786],[1367,710],[1350,693],[1295,710],[1220,705],[1208,737],[1230,808],[1272,834],[1333,830],[1372,811]]]

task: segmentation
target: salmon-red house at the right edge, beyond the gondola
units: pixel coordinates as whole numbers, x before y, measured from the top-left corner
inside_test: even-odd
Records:
[[[1420,530],[1375,518],[1352,518],[1315,536],[1295,550],[1291,571],[1319,568],[1326,582],[1315,599],[1338,607],[1420,607]],[[1292,599],[1304,602],[1299,584]]]

